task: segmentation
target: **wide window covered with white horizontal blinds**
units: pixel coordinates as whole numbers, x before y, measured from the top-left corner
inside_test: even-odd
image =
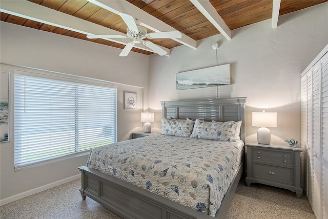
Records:
[[[116,88],[15,74],[15,168],[116,143]]]

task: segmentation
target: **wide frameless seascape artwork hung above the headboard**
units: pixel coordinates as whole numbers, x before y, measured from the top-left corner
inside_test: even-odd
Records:
[[[230,84],[230,64],[180,72],[176,74],[177,90]]]

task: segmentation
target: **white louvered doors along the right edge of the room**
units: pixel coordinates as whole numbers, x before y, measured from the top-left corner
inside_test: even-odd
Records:
[[[308,152],[306,195],[315,216],[328,218],[328,45],[303,71],[302,148]],[[315,64],[314,64],[315,63]],[[309,69],[310,68],[310,69]],[[309,69],[309,70],[308,70]],[[306,83],[305,83],[306,81]],[[306,85],[306,86],[305,86]],[[304,98],[305,90],[307,98]],[[306,120],[303,116],[306,103]],[[306,133],[304,127],[306,126]]]

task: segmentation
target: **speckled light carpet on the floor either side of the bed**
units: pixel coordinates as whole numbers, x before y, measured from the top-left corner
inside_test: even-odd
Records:
[[[0,209],[2,219],[9,218],[110,218],[119,219],[110,210],[87,197],[82,200],[80,180],[22,198],[4,205]],[[315,219],[308,199],[303,194],[296,198],[295,193],[270,186],[239,182],[226,219]]]

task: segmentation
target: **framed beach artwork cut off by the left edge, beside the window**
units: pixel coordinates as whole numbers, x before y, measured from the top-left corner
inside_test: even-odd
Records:
[[[0,142],[8,142],[9,73],[0,74]]]

